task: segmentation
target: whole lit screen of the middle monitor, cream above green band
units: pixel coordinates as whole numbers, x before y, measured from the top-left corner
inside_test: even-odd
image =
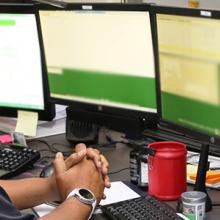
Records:
[[[156,112],[148,12],[40,11],[52,97]]]

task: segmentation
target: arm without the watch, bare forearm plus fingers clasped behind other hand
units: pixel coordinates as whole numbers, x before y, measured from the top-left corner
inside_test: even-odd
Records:
[[[93,149],[86,149],[84,144],[76,146],[77,153],[72,154],[65,160],[65,169],[69,169],[75,164],[79,163],[88,154],[96,167],[99,166],[99,161],[102,161],[99,154]],[[102,162],[101,170],[104,173],[104,179],[108,177],[107,173],[108,163],[104,159]],[[106,181],[105,181],[106,182]],[[109,180],[107,181],[108,184]],[[106,184],[106,185],[107,185]],[[55,177],[49,178],[27,178],[22,180],[0,180],[2,186],[8,193],[10,199],[18,209],[30,208],[46,201],[61,200],[59,190]]]

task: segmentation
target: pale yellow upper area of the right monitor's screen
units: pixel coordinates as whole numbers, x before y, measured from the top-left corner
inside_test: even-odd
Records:
[[[157,15],[161,89],[219,105],[220,22]]]

